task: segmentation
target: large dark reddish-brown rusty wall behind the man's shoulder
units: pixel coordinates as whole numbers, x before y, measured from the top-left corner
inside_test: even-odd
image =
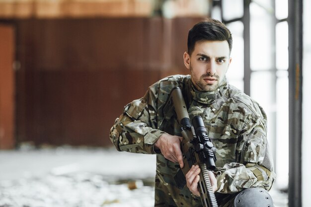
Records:
[[[124,105],[159,78],[188,72],[182,57],[198,20],[15,20],[18,142],[109,145]]]

